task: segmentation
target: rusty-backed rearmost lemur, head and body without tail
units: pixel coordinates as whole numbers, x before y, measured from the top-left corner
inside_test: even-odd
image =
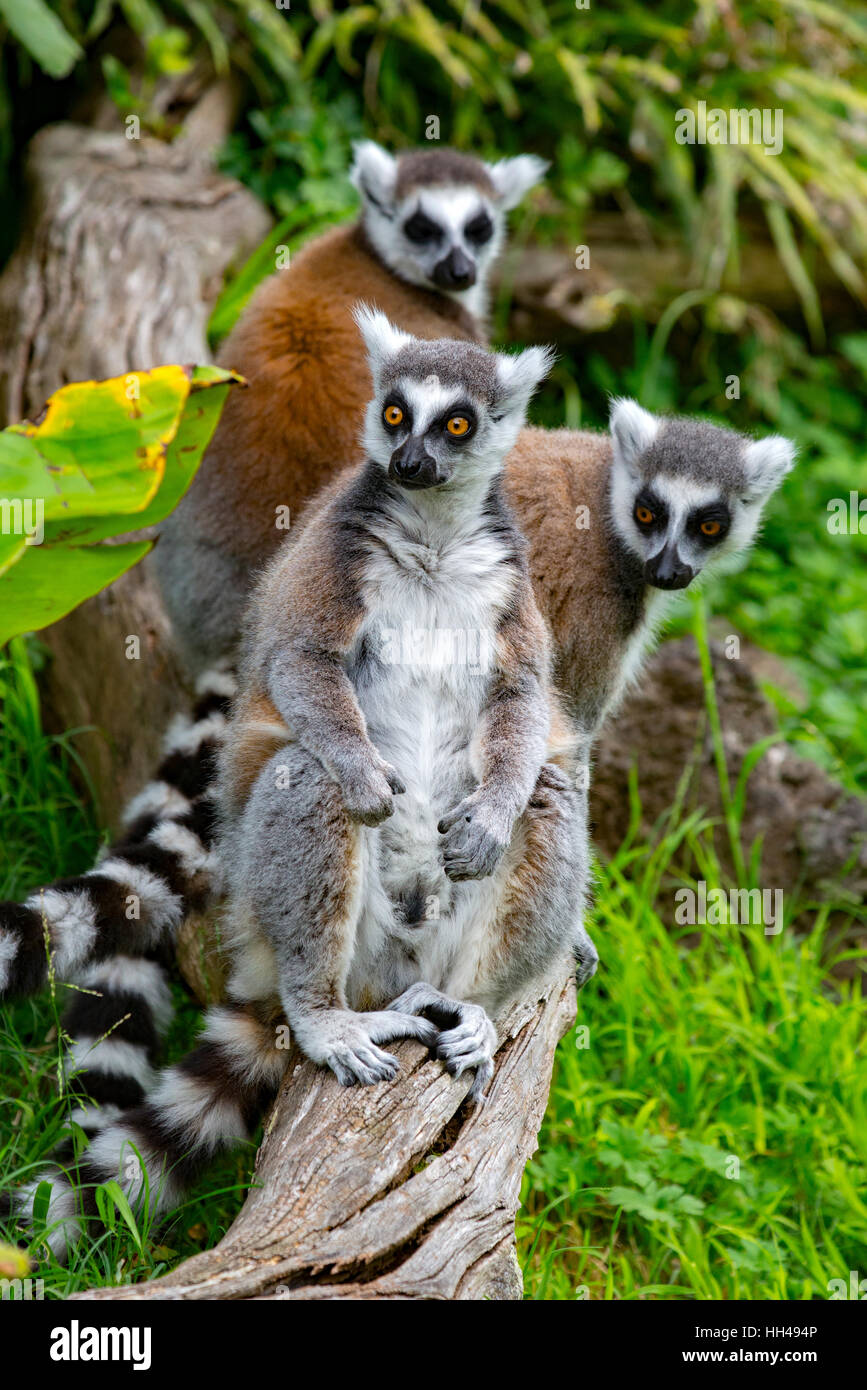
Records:
[[[371,378],[353,306],[375,304],[418,338],[484,343],[506,213],[545,168],[532,154],[484,164],[454,150],[356,147],[361,217],[271,275],[226,338],[218,361],[249,389],[226,400],[154,550],[193,670],[235,656],[254,580],[285,535],[285,507],[295,516],[335,466],[358,457]]]

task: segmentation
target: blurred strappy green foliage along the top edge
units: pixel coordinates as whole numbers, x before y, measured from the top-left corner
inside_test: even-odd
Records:
[[[44,8],[44,0],[3,7],[10,24],[13,11]],[[704,291],[736,286],[741,249],[760,217],[816,339],[817,256],[867,299],[861,3],[671,0],[664,14],[632,0],[586,10],[572,0],[315,0],[290,10],[268,0],[54,0],[54,8],[82,50],[113,21],[136,32],[142,93],[115,58],[106,74],[125,110],[146,106],[154,74],[204,50],[218,72],[235,67],[251,79],[258,113],[250,121],[265,146],[286,126],[292,139],[300,93],[317,83],[317,106],[331,108],[322,120],[335,128],[356,124],[360,104],[367,128],[389,143],[422,140],[438,115],[442,138],[459,146],[539,150],[553,161],[550,232],[574,235],[592,202],[614,196],[649,232],[679,228],[692,282]],[[65,32],[60,21],[54,28]],[[51,29],[31,19],[17,36],[35,51]],[[782,110],[782,150],[677,143],[677,113],[699,100],[724,111]],[[288,211],[279,183],[253,183],[278,215]]]

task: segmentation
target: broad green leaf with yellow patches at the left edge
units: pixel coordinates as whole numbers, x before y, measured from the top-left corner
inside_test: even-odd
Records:
[[[61,386],[0,434],[0,645],[46,627],[151,548],[101,545],[161,521],[192,482],[233,373],[157,367]]]

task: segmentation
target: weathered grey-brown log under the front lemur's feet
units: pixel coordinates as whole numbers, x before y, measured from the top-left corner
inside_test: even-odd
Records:
[[[343,1090],[292,1059],[257,1183],[211,1251],[161,1279],[86,1298],[520,1298],[514,1218],[574,980],[499,1022],[488,1098],[465,1104],[417,1042],[402,1074]]]

